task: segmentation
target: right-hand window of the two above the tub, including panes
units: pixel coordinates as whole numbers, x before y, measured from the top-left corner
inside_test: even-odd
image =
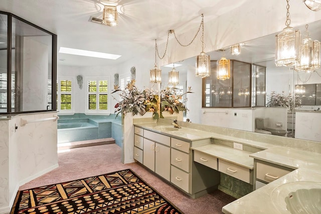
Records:
[[[109,113],[108,102],[109,77],[87,78],[87,110],[88,113]]]

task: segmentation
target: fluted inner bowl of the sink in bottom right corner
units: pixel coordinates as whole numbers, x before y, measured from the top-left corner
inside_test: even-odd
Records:
[[[298,189],[285,197],[286,208],[292,214],[321,213],[321,188]]]

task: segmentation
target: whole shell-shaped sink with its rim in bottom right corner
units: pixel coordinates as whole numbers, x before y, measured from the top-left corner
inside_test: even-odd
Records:
[[[296,181],[277,186],[272,194],[273,205],[281,213],[321,213],[321,183]]]

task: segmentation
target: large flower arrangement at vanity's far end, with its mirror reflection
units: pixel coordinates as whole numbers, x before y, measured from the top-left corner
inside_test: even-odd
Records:
[[[157,91],[153,89],[145,88],[143,91],[140,91],[135,86],[135,80],[128,82],[125,89],[121,90],[118,85],[114,85],[114,91],[121,92],[120,98],[121,101],[115,105],[115,113],[116,117],[119,113],[123,115],[127,112],[133,112],[133,115],[144,115],[146,112],[153,112],[153,118],[157,119],[158,117],[163,118],[162,112],[169,111],[171,114],[174,112],[179,113],[180,111],[187,112],[188,109],[184,105],[183,102],[186,102],[187,99],[182,100],[182,97],[186,93],[192,93],[191,87],[189,87],[189,91],[182,94],[177,95],[175,89],[171,89],[167,87],[166,89],[160,92],[160,112],[161,115],[158,115],[158,94]],[[114,98],[115,99],[115,98]]]

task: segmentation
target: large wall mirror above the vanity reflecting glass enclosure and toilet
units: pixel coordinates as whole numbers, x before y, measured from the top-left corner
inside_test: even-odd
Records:
[[[303,39],[305,25],[295,29]],[[308,30],[312,40],[321,41],[321,21],[309,23]],[[200,112],[202,124],[321,142],[321,69],[275,66],[275,35],[244,41],[239,55],[232,55],[231,47],[207,53],[211,76],[202,79],[202,105],[187,107]],[[223,54],[232,62],[231,78],[218,80],[216,62]],[[184,93],[195,84],[187,77],[195,57],[175,63],[180,72],[176,87]],[[163,87],[172,69],[162,67]]]

